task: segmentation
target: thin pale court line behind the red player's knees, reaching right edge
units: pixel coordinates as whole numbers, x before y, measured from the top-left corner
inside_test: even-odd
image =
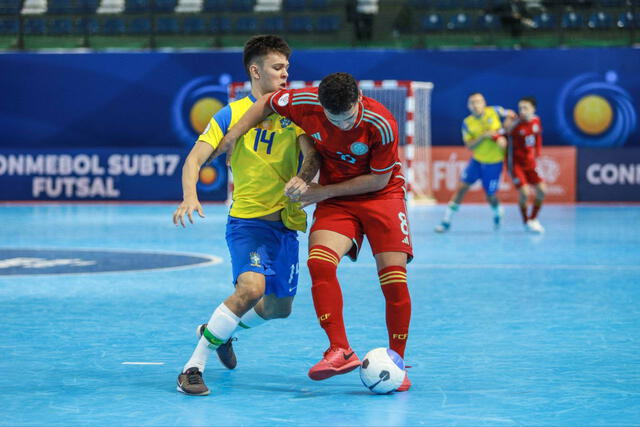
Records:
[[[372,268],[372,263],[343,263],[340,268]],[[428,270],[629,270],[640,271],[638,265],[592,264],[409,264],[409,269]]]

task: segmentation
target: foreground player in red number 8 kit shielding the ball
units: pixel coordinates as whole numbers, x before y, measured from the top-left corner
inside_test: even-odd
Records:
[[[258,99],[221,144],[233,147],[236,138],[274,111],[311,135],[322,157],[319,184],[300,180],[287,191],[305,206],[318,203],[307,265],[316,314],[330,345],[309,377],[323,380],[360,366],[346,336],[337,267],[344,255],[355,261],[364,235],[386,301],[389,347],[404,357],[411,318],[406,264],[413,249],[395,118],[363,97],[353,76],[334,73],[317,88],[280,90]],[[405,376],[398,391],[410,387]]]

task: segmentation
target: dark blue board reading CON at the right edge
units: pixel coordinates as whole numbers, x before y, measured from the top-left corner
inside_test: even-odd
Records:
[[[640,202],[640,148],[578,150],[578,200]]]

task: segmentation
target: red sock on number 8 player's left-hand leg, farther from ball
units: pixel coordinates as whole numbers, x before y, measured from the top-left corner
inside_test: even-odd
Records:
[[[342,291],[336,270],[340,258],[326,246],[309,248],[307,266],[311,275],[311,294],[320,326],[334,347],[349,348],[342,317]]]

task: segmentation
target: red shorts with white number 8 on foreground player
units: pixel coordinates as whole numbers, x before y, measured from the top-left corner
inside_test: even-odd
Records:
[[[358,258],[365,234],[373,255],[404,252],[408,261],[413,258],[404,199],[321,202],[313,213],[311,232],[316,230],[335,231],[351,239],[354,245],[347,255],[352,261]]]

